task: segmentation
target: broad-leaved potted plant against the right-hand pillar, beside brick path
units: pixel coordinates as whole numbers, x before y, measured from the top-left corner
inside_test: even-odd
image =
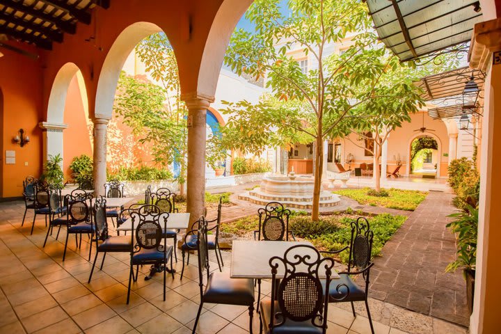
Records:
[[[466,205],[466,210],[451,214],[454,221],[447,224],[447,228],[457,237],[456,260],[447,266],[446,271],[457,269],[475,270],[477,260],[477,230],[478,208]]]

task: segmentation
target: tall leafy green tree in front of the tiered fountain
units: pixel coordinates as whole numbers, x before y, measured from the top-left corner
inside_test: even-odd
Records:
[[[409,81],[385,87],[383,74],[400,65],[376,45],[363,1],[290,0],[287,17],[279,3],[255,1],[246,13],[255,32],[237,30],[232,35],[225,64],[237,74],[255,79],[266,76],[272,93],[258,104],[228,104],[225,112],[235,116],[223,134],[230,138],[227,145],[237,147],[314,142],[312,219],[318,221],[324,140],[349,134],[351,119],[363,115],[369,106],[381,110],[381,99],[405,106],[415,103],[415,94],[408,94],[414,88]],[[341,55],[329,54],[326,46],[345,38],[351,38],[348,49]],[[298,46],[318,67],[301,71],[288,53]]]

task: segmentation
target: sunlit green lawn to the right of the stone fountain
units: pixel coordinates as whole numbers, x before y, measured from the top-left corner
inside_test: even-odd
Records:
[[[399,189],[386,189],[388,197],[369,196],[367,195],[369,188],[363,189],[341,189],[336,190],[341,196],[353,198],[360,204],[372,205],[373,207],[388,207],[390,209],[400,209],[406,211],[414,211],[417,205],[426,198],[428,193],[426,191],[417,190],[399,190]]]

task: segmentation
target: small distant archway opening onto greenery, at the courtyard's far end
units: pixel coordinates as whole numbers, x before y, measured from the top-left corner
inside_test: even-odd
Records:
[[[411,141],[410,148],[411,170],[409,175],[423,178],[435,178],[440,166],[440,154],[435,138],[427,135],[418,136]]]

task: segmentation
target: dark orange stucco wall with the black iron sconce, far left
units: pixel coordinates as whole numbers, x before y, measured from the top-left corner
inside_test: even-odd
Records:
[[[33,47],[24,47],[33,52]],[[2,49],[0,58],[0,89],[3,95],[1,114],[3,166],[1,197],[22,196],[22,181],[27,175],[42,173],[42,70],[40,61]],[[24,129],[30,143],[20,147],[13,143],[19,129]],[[6,150],[15,151],[15,164],[6,164]]]

